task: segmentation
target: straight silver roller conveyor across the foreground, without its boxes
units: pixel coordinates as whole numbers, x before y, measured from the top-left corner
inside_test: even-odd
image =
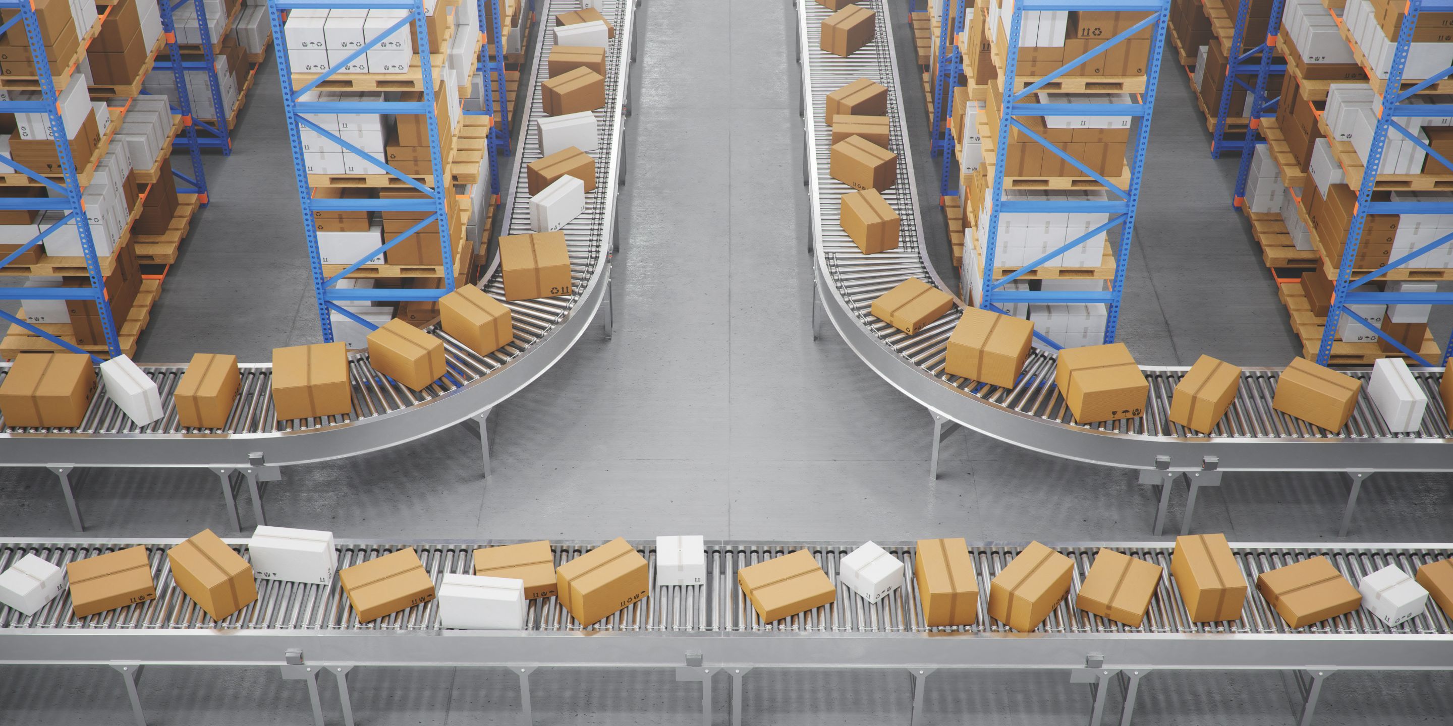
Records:
[[[1075,562],[1069,597],[1032,636],[1014,633],[985,611],[989,581],[1019,553],[1019,544],[971,547],[979,581],[975,626],[926,627],[912,578],[912,543],[885,547],[907,568],[905,587],[876,604],[838,584],[837,603],[763,623],[737,585],[740,568],[808,547],[837,581],[838,562],[854,543],[709,542],[703,585],[655,587],[655,547],[638,544],[651,562],[651,595],[602,623],[580,627],[555,598],[533,600],[525,630],[445,630],[437,601],[360,624],[339,587],[259,581],[259,600],[212,627],[171,581],[166,549],[177,540],[0,540],[0,571],[28,552],[64,565],[145,544],[157,600],[76,619],[62,594],[32,617],[0,607],[0,664],[190,662],[278,664],[301,648],[308,662],[392,665],[610,664],[680,665],[684,650],[708,664],[758,666],[1082,666],[1085,653],[1106,664],[1142,668],[1453,669],[1453,620],[1436,604],[1388,627],[1366,610],[1289,629],[1255,590],[1257,574],[1322,555],[1357,582],[1386,565],[1415,572],[1453,556],[1453,544],[1234,544],[1250,584],[1238,621],[1191,623],[1170,576],[1170,543],[1071,543],[1055,547]],[[227,540],[243,556],[246,540]],[[471,550],[493,543],[339,542],[339,568],[413,546],[434,578],[471,572]],[[556,566],[599,543],[556,543]],[[1098,547],[1114,547],[1162,568],[1159,590],[1141,627],[1074,607],[1080,581]],[[766,637],[776,636],[776,637]],[[479,642],[479,637],[488,639]],[[487,643],[487,645],[485,645]]]

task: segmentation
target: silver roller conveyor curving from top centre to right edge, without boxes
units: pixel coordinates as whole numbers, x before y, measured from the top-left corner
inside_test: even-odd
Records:
[[[879,376],[930,411],[975,431],[1090,463],[1151,469],[1158,456],[1170,456],[1174,469],[1199,469],[1205,457],[1213,456],[1222,470],[1453,470],[1453,449],[1438,446],[1453,440],[1437,395],[1440,369],[1414,372],[1430,398],[1422,430],[1417,434],[1388,431],[1366,393],[1341,433],[1273,411],[1274,369],[1245,369],[1239,395],[1213,436],[1189,431],[1167,418],[1171,392],[1189,370],[1186,367],[1144,367],[1151,383],[1145,415],[1096,424],[1077,424],[1071,417],[1053,386],[1055,354],[1048,350],[1035,348],[1013,389],[946,375],[946,343],[959,321],[958,308],[915,335],[905,335],[869,312],[875,298],[908,277],[920,277],[950,295],[953,290],[928,263],[927,241],[918,224],[907,115],[898,93],[899,76],[889,32],[897,20],[882,0],[859,4],[878,13],[878,29],[873,42],[849,58],[819,49],[822,19],[831,15],[827,7],[798,0],[798,30],[814,283],[828,319]],[[827,94],[856,78],[872,78],[888,87],[892,151],[898,154],[898,182],[883,197],[902,218],[899,247],[872,256],[862,254],[838,224],[838,197],[853,189],[828,173],[833,131],[822,123]],[[1350,373],[1367,379],[1366,370]]]

